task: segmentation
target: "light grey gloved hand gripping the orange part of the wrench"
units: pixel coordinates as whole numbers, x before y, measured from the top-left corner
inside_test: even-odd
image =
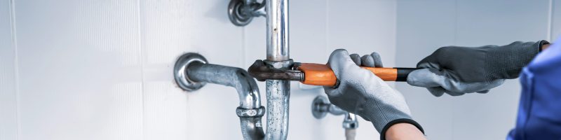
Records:
[[[371,121],[381,135],[396,123],[411,123],[422,131],[421,126],[411,120],[411,113],[403,95],[393,90],[374,73],[360,68],[360,64],[382,66],[379,55],[375,52],[365,55],[362,61],[359,55],[349,56],[346,50],[339,49],[331,53],[327,65],[334,71],[339,84],[324,87],[330,102]]]

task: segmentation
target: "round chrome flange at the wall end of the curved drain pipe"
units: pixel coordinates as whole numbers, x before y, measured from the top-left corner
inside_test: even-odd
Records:
[[[189,64],[194,63],[208,64],[208,61],[205,57],[203,57],[203,55],[189,52],[181,55],[175,62],[173,77],[175,78],[175,83],[177,83],[177,85],[179,85],[179,87],[183,90],[194,91],[206,85],[205,82],[195,82],[187,76],[187,67],[189,67]]]

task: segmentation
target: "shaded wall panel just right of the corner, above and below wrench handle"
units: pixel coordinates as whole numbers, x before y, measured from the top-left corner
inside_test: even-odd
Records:
[[[397,66],[414,67],[434,50],[454,44],[455,1],[398,1]],[[428,139],[452,139],[452,97],[434,97],[421,87],[396,84],[405,96],[412,116]]]

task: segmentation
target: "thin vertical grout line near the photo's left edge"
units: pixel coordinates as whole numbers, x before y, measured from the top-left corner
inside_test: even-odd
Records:
[[[15,86],[15,122],[16,122],[16,135],[15,139],[21,139],[21,124],[20,124],[20,72],[19,72],[19,60],[18,60],[18,38],[15,35],[15,0],[10,0],[10,25],[11,25],[11,36],[12,36],[12,47],[14,48],[14,86]]]

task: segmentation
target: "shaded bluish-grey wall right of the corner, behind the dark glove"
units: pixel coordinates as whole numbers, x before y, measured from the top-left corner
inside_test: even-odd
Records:
[[[559,1],[553,0],[557,5]],[[548,40],[548,0],[398,1],[396,62],[415,66],[446,45],[505,45]],[[561,19],[554,6],[553,34]],[[433,97],[420,87],[399,83],[414,118],[428,139],[505,139],[515,125],[520,85],[508,80],[487,94]]]

